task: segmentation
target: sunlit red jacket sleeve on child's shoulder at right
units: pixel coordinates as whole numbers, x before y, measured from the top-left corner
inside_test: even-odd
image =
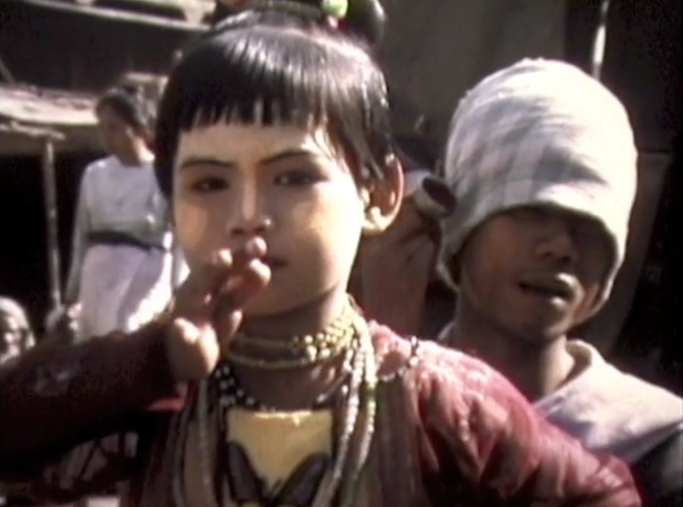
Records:
[[[473,504],[641,505],[626,465],[587,452],[501,374],[458,352],[424,348],[421,419],[439,467],[457,471]]]

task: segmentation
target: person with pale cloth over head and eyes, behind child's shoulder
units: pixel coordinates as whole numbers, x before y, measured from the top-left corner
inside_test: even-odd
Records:
[[[524,60],[467,94],[445,174],[458,288],[444,342],[505,373],[548,420],[634,471],[645,505],[680,505],[683,401],[581,340],[624,259],[637,149],[623,105],[559,61]]]

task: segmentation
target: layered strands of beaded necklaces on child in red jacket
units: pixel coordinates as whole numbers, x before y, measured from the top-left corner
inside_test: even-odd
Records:
[[[259,346],[286,348],[291,357],[277,360],[250,357],[242,352],[250,340],[254,340],[251,344]],[[173,497],[176,507],[187,505],[183,487],[184,437],[187,435],[192,413],[196,414],[199,425],[199,458],[206,505],[224,507],[222,499],[233,497],[229,491],[229,481],[225,480],[225,474],[229,471],[219,470],[216,474],[212,470],[210,424],[218,424],[225,431],[224,434],[228,435],[228,419],[225,415],[230,409],[242,407],[255,411],[274,410],[273,407],[264,406],[240,387],[232,364],[283,370],[319,364],[342,355],[344,367],[342,374],[338,375],[339,382],[333,385],[333,389],[322,394],[313,405],[313,408],[326,406],[333,394],[337,393],[344,400],[344,408],[340,414],[341,431],[335,442],[333,461],[322,476],[310,507],[329,507],[333,502],[339,507],[352,507],[370,452],[376,417],[377,364],[370,329],[365,319],[349,301],[342,314],[328,328],[315,335],[293,338],[284,344],[242,336],[237,337],[234,344],[236,346],[227,353],[226,360],[209,379],[199,384],[196,407],[186,407],[179,415],[180,438],[173,459]],[[417,341],[413,343],[413,349],[415,357]],[[406,368],[411,365],[412,359]],[[395,378],[395,375],[396,373],[391,378]],[[210,417],[212,409],[217,419]]]

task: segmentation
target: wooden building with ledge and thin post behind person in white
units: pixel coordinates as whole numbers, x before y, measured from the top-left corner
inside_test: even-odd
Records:
[[[0,214],[21,223],[3,236],[0,292],[27,307],[40,333],[66,275],[81,174],[102,154],[92,114],[96,96],[122,76],[158,95],[158,76],[206,29],[214,3],[0,3]]]

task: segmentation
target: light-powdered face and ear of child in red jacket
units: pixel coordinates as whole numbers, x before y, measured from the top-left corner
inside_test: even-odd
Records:
[[[180,135],[173,215],[191,269],[264,238],[273,275],[245,312],[267,316],[346,290],[361,233],[391,223],[401,191],[400,167],[359,189],[324,127],[221,123]]]

